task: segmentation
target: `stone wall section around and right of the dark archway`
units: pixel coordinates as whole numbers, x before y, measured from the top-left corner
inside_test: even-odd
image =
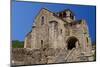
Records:
[[[78,39],[78,45],[81,50],[85,52],[91,51],[91,40],[85,20],[74,21],[73,23],[66,25],[66,41],[70,37]]]

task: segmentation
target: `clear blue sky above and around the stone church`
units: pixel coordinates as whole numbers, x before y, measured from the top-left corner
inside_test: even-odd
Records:
[[[96,7],[71,4],[50,4],[39,2],[12,2],[12,40],[24,41],[26,34],[31,30],[34,19],[41,10],[47,8],[52,12],[70,9],[74,12],[76,19],[85,19],[92,41],[96,38]]]

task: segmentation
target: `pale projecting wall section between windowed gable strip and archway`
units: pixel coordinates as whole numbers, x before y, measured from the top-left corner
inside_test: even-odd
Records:
[[[64,22],[55,16],[51,16],[49,19],[49,42],[52,44],[52,48],[64,48]]]

